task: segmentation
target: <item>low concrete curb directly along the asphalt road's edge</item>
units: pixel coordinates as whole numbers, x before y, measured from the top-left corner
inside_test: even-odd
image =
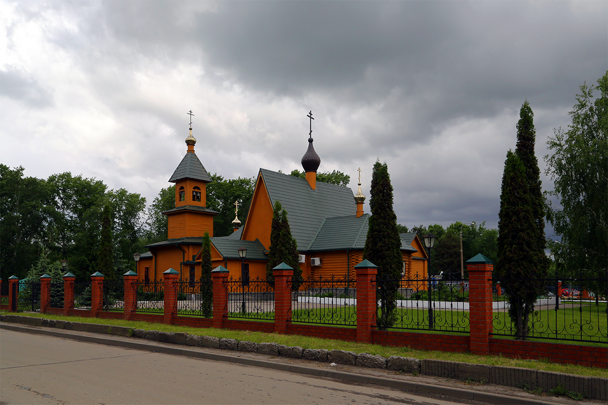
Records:
[[[335,378],[344,381],[351,381],[362,384],[375,384],[378,386],[390,387],[401,390],[414,390],[420,392],[440,393],[441,395],[454,396],[456,398],[467,398],[469,400],[482,401],[492,404],[513,404],[513,405],[556,405],[548,401],[531,400],[527,398],[517,398],[514,396],[500,395],[496,393],[478,392],[466,389],[438,386],[434,384],[412,383],[410,381],[401,381],[397,379],[383,378],[378,376],[367,376],[342,372],[339,370],[320,369],[319,367],[296,366],[294,364],[277,363],[272,361],[241,358],[236,356],[221,355],[218,353],[206,353],[196,350],[182,349],[180,347],[167,347],[155,345],[147,342],[137,341],[122,341],[102,336],[85,336],[74,335],[68,332],[60,332],[58,330],[37,329],[27,326],[0,324],[0,328],[13,330],[15,332],[33,333],[36,335],[55,336],[57,338],[72,339],[81,342],[89,342],[95,344],[106,344],[118,347],[126,347],[128,349],[145,350],[148,352],[165,353],[168,355],[188,356],[206,360],[226,361],[235,364],[243,364],[244,366],[264,367],[272,370],[282,370],[292,373],[300,373],[322,378]]]

